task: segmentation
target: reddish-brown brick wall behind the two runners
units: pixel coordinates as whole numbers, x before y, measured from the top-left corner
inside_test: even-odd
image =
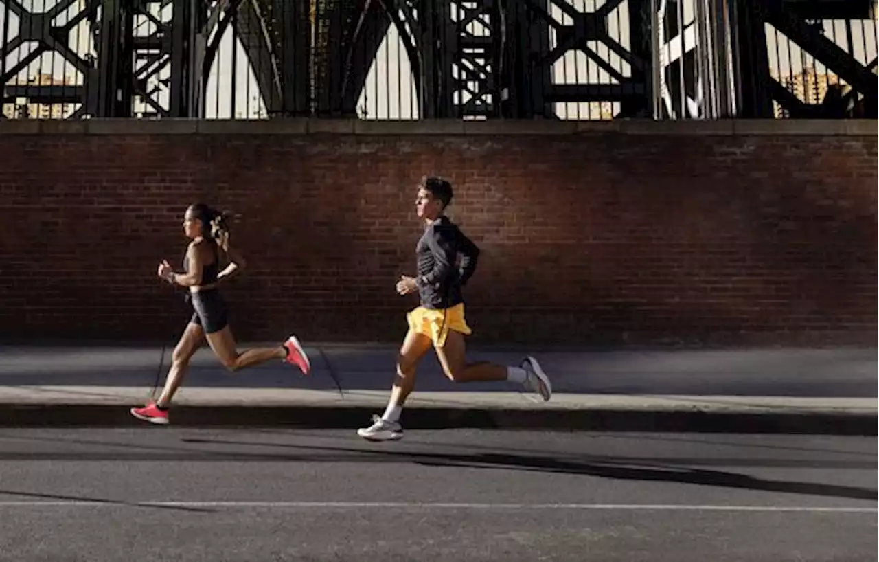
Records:
[[[0,339],[177,338],[193,201],[243,215],[239,339],[396,341],[414,185],[483,249],[473,338],[846,344],[879,334],[879,123],[0,123]]]

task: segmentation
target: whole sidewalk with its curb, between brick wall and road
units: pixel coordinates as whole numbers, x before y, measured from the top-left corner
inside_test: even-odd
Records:
[[[353,428],[381,413],[396,347],[306,351],[309,377],[280,361],[232,374],[200,350],[172,423]],[[474,349],[470,359],[518,365],[523,353]],[[405,427],[879,434],[879,349],[534,355],[553,382],[548,403],[510,383],[451,383],[429,354]],[[171,349],[160,371],[161,356],[160,347],[0,347],[0,426],[142,424],[127,409],[149,398],[158,372],[161,388]]]

